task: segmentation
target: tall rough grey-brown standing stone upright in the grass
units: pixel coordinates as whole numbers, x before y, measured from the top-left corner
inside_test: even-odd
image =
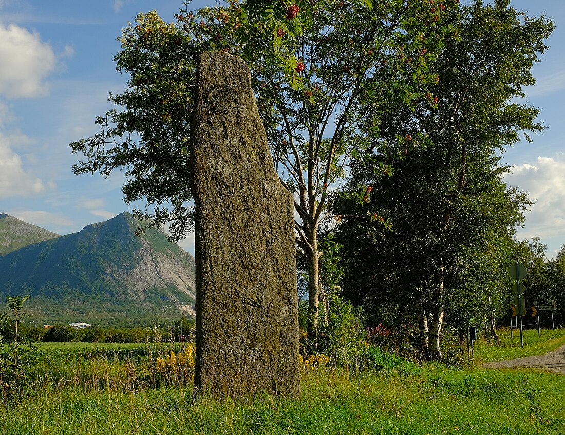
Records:
[[[298,396],[292,195],[273,168],[245,62],[203,53],[197,75],[194,385]]]

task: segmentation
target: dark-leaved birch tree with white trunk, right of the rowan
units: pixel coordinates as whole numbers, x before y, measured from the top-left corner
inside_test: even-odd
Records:
[[[475,1],[450,19],[458,38],[431,65],[437,84],[414,110],[383,117],[373,144],[380,166],[366,166],[357,180],[397,233],[386,237],[398,243],[396,267],[409,269],[394,271],[392,282],[405,277],[430,358],[441,358],[446,301],[470,259],[466,250],[488,251],[497,232],[511,236],[528,205],[502,183],[499,159],[521,133],[542,129],[538,111],[520,98],[553,31],[550,20],[529,18],[507,0]]]

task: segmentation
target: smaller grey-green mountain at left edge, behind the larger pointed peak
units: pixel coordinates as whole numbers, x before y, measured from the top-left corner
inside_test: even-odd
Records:
[[[45,228],[27,224],[14,216],[0,213],[0,255],[55,237],[60,236]]]

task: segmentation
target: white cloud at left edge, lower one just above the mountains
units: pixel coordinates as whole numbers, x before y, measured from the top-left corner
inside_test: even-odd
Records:
[[[32,196],[44,192],[44,183],[24,170],[21,156],[12,150],[12,143],[26,141],[24,135],[6,136],[0,132],[0,199]]]

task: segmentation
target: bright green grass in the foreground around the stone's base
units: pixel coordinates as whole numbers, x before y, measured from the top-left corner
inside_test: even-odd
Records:
[[[528,332],[524,349],[508,336],[501,334],[501,347],[478,341],[475,362],[464,369],[428,363],[372,373],[308,370],[299,399],[260,395],[218,401],[206,394],[193,398],[189,386],[137,388],[128,384],[128,366],[120,356],[85,359],[80,352],[69,353],[52,362],[58,364],[59,381],[44,382],[27,401],[0,410],[0,433],[565,433],[562,376],[480,367],[499,355],[518,358],[554,350],[565,342],[565,331],[542,331],[541,339],[537,331]],[[49,346],[44,350],[54,349]]]

